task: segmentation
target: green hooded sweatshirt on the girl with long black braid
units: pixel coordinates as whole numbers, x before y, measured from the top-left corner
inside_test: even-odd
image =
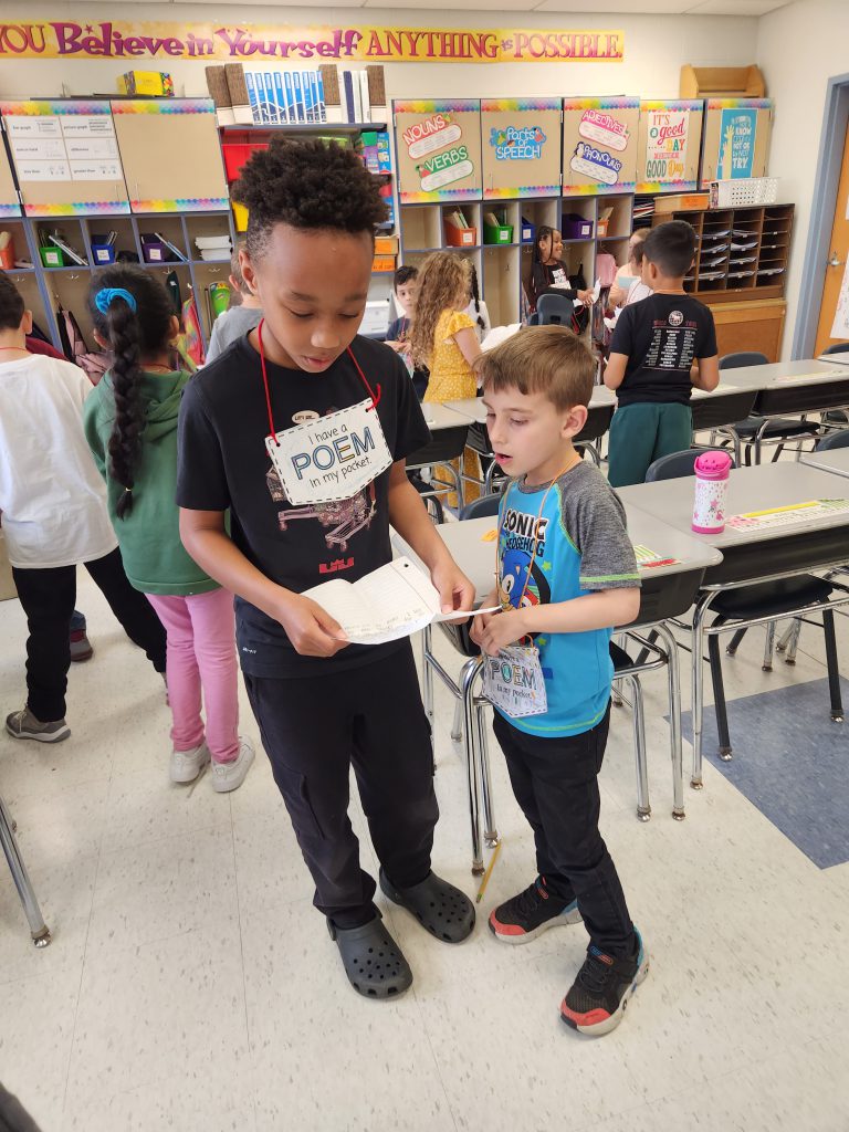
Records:
[[[123,487],[109,471],[109,438],[114,420],[112,375],[105,374],[88,395],[83,426],[94,462],[106,481],[106,501],[130,584],[142,593],[186,597],[218,588],[183,549],[177,492],[177,418],[182,388],[190,374],[143,372],[145,430],[135,469],[132,511],[119,518]]]

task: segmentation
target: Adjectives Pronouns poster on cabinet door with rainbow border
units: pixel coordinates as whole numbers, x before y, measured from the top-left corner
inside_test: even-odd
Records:
[[[633,192],[638,98],[565,98],[563,191]]]

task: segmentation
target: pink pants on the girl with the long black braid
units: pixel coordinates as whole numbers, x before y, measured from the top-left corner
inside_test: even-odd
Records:
[[[148,593],[168,634],[168,696],[171,701],[174,751],[191,751],[204,741],[200,687],[206,706],[206,743],[213,761],[239,755],[239,684],[235,618],[229,590],[186,598]]]

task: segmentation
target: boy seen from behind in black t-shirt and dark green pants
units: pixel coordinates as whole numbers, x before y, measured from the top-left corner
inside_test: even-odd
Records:
[[[653,228],[643,246],[643,283],[653,294],[625,307],[616,323],[604,385],[618,408],[610,424],[609,479],[642,483],[649,465],[693,440],[692,387],[719,385],[713,315],[684,291],[695,255],[685,221]]]

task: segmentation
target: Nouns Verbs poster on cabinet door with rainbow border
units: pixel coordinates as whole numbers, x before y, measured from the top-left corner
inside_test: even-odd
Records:
[[[480,102],[395,102],[393,106],[401,203],[480,198]]]

